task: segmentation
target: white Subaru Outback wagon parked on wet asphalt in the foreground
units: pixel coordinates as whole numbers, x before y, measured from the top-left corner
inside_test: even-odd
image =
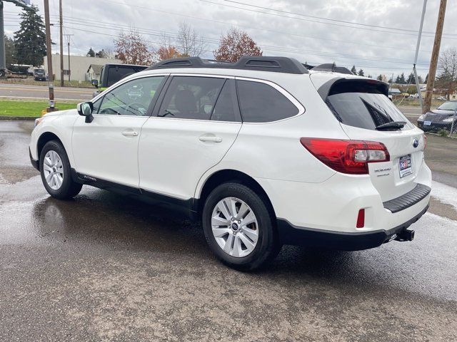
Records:
[[[293,58],[178,58],[37,119],[30,157],[53,197],[91,185],[179,209],[221,261],[255,269],[283,244],[411,241],[425,147],[386,83]]]

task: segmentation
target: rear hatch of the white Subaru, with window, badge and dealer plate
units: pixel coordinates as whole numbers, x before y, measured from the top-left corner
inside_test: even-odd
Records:
[[[349,139],[386,146],[389,161],[368,162],[371,182],[382,201],[415,189],[423,164],[425,136],[393,105],[388,98],[388,85],[349,77],[333,79],[318,90]]]

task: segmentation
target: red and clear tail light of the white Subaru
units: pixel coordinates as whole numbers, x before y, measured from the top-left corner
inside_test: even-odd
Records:
[[[368,162],[388,162],[382,142],[301,138],[301,145],[333,170],[351,175],[368,175]]]

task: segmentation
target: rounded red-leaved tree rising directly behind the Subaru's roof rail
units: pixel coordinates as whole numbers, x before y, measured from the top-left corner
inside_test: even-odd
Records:
[[[214,58],[235,63],[241,56],[262,56],[262,51],[248,33],[232,28],[225,36],[221,36]]]

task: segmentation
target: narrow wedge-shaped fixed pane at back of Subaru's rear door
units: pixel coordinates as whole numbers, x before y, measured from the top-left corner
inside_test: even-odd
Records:
[[[235,81],[227,80],[222,88],[219,98],[217,98],[214,106],[212,121],[230,121],[237,122],[238,119],[238,104],[236,103],[236,88]]]

